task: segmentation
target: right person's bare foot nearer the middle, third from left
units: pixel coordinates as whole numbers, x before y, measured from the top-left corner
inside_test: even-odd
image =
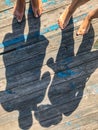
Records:
[[[65,11],[61,14],[61,16],[58,20],[58,24],[59,24],[61,29],[64,29],[68,25],[71,16],[72,16],[72,13],[70,12],[70,9],[69,9],[69,6],[68,6],[65,9]]]

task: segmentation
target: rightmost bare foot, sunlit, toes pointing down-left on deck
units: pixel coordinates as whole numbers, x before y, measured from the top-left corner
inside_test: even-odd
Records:
[[[76,33],[76,35],[78,36],[78,35],[84,35],[84,34],[88,33],[89,28],[90,28],[90,23],[91,23],[91,20],[90,20],[90,18],[87,16],[87,17],[84,19],[83,23],[81,24],[81,26],[80,26],[78,32]]]

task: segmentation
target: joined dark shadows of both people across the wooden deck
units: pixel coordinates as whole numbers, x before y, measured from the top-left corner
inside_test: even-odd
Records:
[[[13,33],[6,34],[4,41],[10,35],[15,35],[16,28],[21,28],[20,33],[24,35],[25,19],[22,24],[17,24],[14,20]],[[0,92],[2,97],[0,103],[4,110],[7,112],[19,111],[19,127],[23,130],[27,130],[33,125],[32,111],[35,112],[36,119],[43,127],[56,125],[62,120],[62,114],[69,116],[74,112],[82,99],[87,79],[98,67],[96,61],[95,67],[91,68],[88,73],[86,72],[87,64],[84,62],[83,66],[77,66],[83,52],[98,55],[98,51],[90,52],[94,40],[94,30],[91,27],[89,33],[83,37],[77,55],[74,55],[74,25],[73,19],[71,19],[71,28],[62,31],[62,41],[56,63],[52,58],[47,63],[55,72],[48,93],[51,104],[37,107],[37,104],[43,101],[50,82],[48,72],[40,79],[48,40],[44,36],[40,36],[40,18],[34,19],[28,15],[28,25],[27,41],[23,40],[20,48],[3,55],[7,85],[6,90]],[[24,43],[25,45],[23,45]],[[28,44],[30,46],[27,46]],[[23,57],[23,60],[19,61],[20,57]],[[81,60],[83,60],[83,56]]]

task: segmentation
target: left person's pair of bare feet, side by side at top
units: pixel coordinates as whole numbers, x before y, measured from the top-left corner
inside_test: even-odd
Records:
[[[34,16],[37,18],[42,14],[42,1],[41,0],[31,0],[32,10]],[[22,21],[22,18],[25,14],[25,0],[17,0],[13,14],[16,17],[18,22]]]

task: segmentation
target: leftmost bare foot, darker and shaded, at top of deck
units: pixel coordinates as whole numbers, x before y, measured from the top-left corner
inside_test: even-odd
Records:
[[[25,12],[25,0],[17,0],[14,6],[13,14],[18,22],[22,21],[24,12]]]

